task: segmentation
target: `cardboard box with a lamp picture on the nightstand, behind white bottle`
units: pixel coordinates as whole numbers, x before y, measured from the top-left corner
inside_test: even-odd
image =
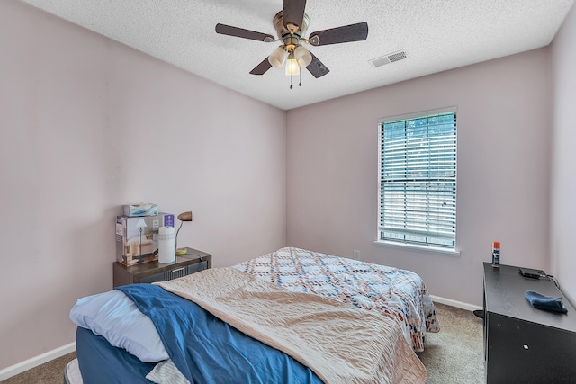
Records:
[[[139,220],[146,224],[146,227],[142,227],[141,236]],[[128,266],[157,260],[160,227],[174,227],[174,214],[160,212],[153,216],[117,216],[116,260]]]

